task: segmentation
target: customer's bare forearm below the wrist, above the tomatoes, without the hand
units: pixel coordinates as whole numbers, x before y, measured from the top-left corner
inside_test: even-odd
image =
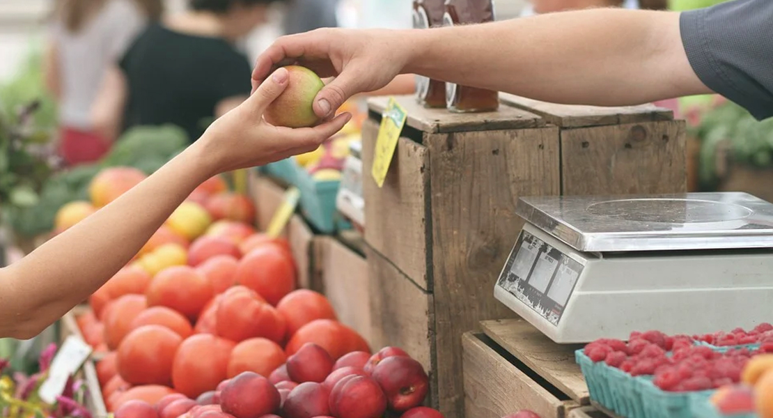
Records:
[[[29,337],[123,267],[206,175],[194,144],[119,199],[6,267],[0,335]]]

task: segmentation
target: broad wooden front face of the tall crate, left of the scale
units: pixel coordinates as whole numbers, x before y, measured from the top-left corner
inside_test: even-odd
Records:
[[[514,316],[493,287],[523,226],[519,196],[559,194],[558,128],[427,134],[425,142],[438,393],[451,417],[464,409],[461,335],[483,319]]]

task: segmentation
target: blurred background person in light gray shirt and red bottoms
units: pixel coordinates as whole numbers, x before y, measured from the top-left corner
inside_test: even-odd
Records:
[[[56,0],[43,66],[59,107],[67,165],[95,161],[109,150],[110,141],[90,120],[100,80],[161,12],[161,0]]]

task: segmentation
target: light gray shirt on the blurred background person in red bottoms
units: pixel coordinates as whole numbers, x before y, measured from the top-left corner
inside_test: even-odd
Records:
[[[132,0],[109,0],[78,32],[54,22],[51,36],[60,68],[60,123],[90,128],[90,110],[107,67],[120,59],[145,17]]]

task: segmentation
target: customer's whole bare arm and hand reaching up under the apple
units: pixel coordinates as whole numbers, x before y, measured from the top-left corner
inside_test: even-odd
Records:
[[[287,86],[287,71],[276,74],[144,182],[0,269],[0,338],[32,338],[86,299],[134,257],[206,178],[312,151],[349,120],[346,114],[295,130],[265,123],[264,108]]]

